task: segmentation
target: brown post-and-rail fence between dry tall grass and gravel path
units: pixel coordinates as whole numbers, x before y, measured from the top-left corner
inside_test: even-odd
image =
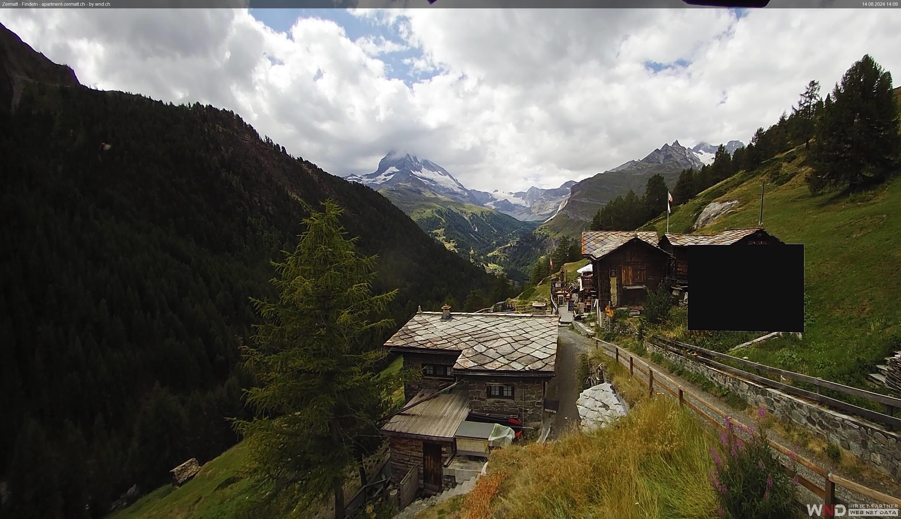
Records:
[[[713,413],[722,417],[724,421],[732,419],[730,416],[724,414],[718,408],[711,405],[704,398],[701,398],[701,397],[697,396],[696,394],[688,391],[687,389],[679,386],[676,382],[669,379],[669,377],[667,377],[666,375],[661,374],[659,371],[655,373],[655,371],[653,371],[653,369],[651,369],[651,366],[648,365],[647,362],[644,362],[640,359],[637,360],[637,362],[636,362],[636,359],[635,359],[635,357],[633,357],[632,353],[628,353],[626,350],[621,350],[619,347],[617,347],[615,345],[611,345],[609,343],[605,343],[604,341],[602,341],[600,339],[595,339],[595,342],[597,343],[597,345],[600,345],[601,347],[604,348],[605,353],[614,357],[616,362],[619,362],[623,365],[629,366],[630,376],[634,376],[635,371],[641,372],[643,374],[643,378],[640,378],[638,380],[642,381],[643,384],[648,386],[648,392],[651,395],[651,397],[653,397],[654,394],[659,394],[659,395],[669,394],[673,398],[678,398],[678,403],[680,406],[688,407],[689,409],[694,411],[697,416],[700,416],[701,418],[703,418],[707,423],[709,423],[710,425],[713,425],[716,429],[719,429],[721,431],[725,431],[728,433],[728,429],[725,425],[721,424],[719,422],[719,420],[714,418],[714,416],[710,416],[705,411],[702,411],[699,407],[696,407],[694,404],[689,402],[685,397],[687,395],[691,398],[694,398],[697,402],[700,402],[701,404],[703,404],[705,407],[710,409]],[[626,358],[628,358],[628,360],[626,360]],[[643,368],[642,368],[641,364],[643,364]],[[656,386],[657,389],[664,389],[666,391],[666,393],[661,393],[661,392],[657,391],[654,386],[655,376],[658,379],[668,380],[669,383],[672,384],[672,386],[677,389],[671,389],[666,384],[661,384],[658,381],[657,386]],[[819,485],[815,484],[814,482],[810,481],[809,479],[806,479],[801,474],[797,474],[790,467],[784,466],[784,469],[786,470],[789,477],[797,476],[798,484],[800,484],[804,488],[807,488],[808,490],[813,492],[817,497],[822,498],[824,500],[824,506],[826,506],[826,507],[828,507],[830,505],[845,505],[845,506],[847,506],[846,503],[844,503],[842,500],[835,497],[835,486],[836,485],[838,485],[842,488],[848,488],[854,492],[857,492],[861,496],[876,499],[880,503],[885,503],[887,505],[901,506],[901,499],[899,499],[897,497],[888,496],[887,494],[883,494],[882,492],[879,492],[878,490],[873,490],[872,488],[867,488],[858,483],[855,483],[855,482],[851,481],[850,479],[844,479],[840,476],[836,476],[832,472],[825,470],[824,468],[820,467],[819,465],[816,465],[815,462],[807,460],[804,456],[801,456],[801,455],[791,452],[791,450],[789,450],[784,445],[781,445],[780,443],[777,443],[771,439],[768,439],[768,442],[778,452],[782,452],[783,454],[785,454],[789,457],[793,457],[799,465],[805,466],[807,469],[812,470],[813,472],[815,472],[816,474],[818,474],[824,478],[824,481],[825,481],[824,487],[820,487]]]

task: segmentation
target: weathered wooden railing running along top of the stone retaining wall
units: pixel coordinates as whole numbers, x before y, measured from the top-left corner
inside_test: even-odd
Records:
[[[874,393],[866,389],[852,388],[851,386],[845,386],[843,384],[839,384],[830,380],[818,379],[809,375],[796,373],[794,371],[780,370],[766,364],[746,361],[744,359],[733,357],[732,355],[726,353],[714,352],[712,350],[707,350],[695,345],[687,345],[686,343],[680,343],[678,341],[657,335],[648,337],[648,342],[671,353],[677,353],[682,356],[690,357],[697,362],[704,363],[718,370],[727,371],[748,380],[753,380],[760,385],[778,389],[784,393],[795,395],[796,397],[807,398],[819,404],[823,404],[824,406],[840,409],[843,412],[849,413],[851,415],[867,418],[868,420],[871,420],[878,424],[887,425],[891,429],[901,430],[901,418],[895,417],[895,409],[901,407],[901,398],[881,395],[879,393]],[[754,372],[751,373],[750,371],[740,370],[733,366],[724,364],[723,362],[716,362],[713,360],[714,358],[722,359],[727,362],[735,362],[739,365],[751,368],[752,370],[754,370]],[[816,391],[808,391],[806,389],[796,388],[795,386],[790,386],[776,380],[768,379],[766,377],[760,376],[761,371],[774,373],[790,380],[798,380],[801,382],[806,382],[808,384],[813,384],[816,386]],[[846,395],[866,398],[871,402],[883,404],[886,407],[886,412],[885,414],[878,413],[877,411],[873,411],[872,409],[868,409],[866,407],[855,406],[837,398],[821,395],[820,388],[832,389],[833,391],[839,391]]]

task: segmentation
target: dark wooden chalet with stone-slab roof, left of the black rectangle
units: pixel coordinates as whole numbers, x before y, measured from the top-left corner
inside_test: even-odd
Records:
[[[657,241],[654,231],[582,233],[582,255],[591,261],[598,309],[642,306],[648,291],[657,290],[672,257]]]

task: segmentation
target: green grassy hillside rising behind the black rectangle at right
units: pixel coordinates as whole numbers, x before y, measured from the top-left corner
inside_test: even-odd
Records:
[[[679,206],[672,232],[690,228],[711,201],[739,201],[734,212],[698,233],[754,227],[760,184],[767,182],[763,226],[787,243],[805,245],[807,310],[815,321],[803,339],[777,338],[750,348],[751,360],[864,386],[873,365],[901,348],[901,179],[853,195],[811,195],[802,147],[716,184]],[[666,230],[666,219],[642,229]],[[765,282],[765,281],[764,281]],[[724,300],[737,297],[724,293]],[[771,309],[778,311],[778,304]]]

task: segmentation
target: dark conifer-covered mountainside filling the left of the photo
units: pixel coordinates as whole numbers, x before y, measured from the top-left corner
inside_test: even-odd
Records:
[[[226,417],[249,417],[253,380],[236,367],[258,322],[249,298],[275,297],[269,262],[296,246],[302,202],[344,208],[378,255],[373,291],[398,290],[381,316],[397,327],[418,305],[510,291],[233,112],[74,83],[27,82],[12,112],[2,101],[5,516],[104,515],[238,440]]]

